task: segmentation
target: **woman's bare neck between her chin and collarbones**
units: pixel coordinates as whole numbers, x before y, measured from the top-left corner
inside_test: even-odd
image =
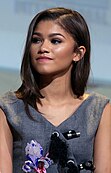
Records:
[[[74,98],[69,76],[60,76],[55,79],[47,79],[45,77],[45,80],[42,81],[40,90],[44,96],[42,102],[46,101],[49,104],[59,104]]]

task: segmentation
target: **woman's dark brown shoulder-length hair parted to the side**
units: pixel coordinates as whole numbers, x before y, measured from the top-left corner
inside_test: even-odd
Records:
[[[74,95],[80,97],[84,94],[90,72],[90,33],[85,19],[77,11],[66,8],[50,8],[39,12],[31,21],[27,33],[26,44],[21,64],[22,85],[16,91],[28,108],[28,104],[37,109],[36,101],[40,102],[43,96],[39,90],[39,74],[35,75],[31,65],[30,47],[35,27],[40,21],[56,21],[66,32],[68,32],[79,46],[84,46],[86,52],[84,57],[73,64],[71,72],[71,85]]]

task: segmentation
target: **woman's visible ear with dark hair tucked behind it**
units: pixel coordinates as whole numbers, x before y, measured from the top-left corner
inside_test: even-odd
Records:
[[[77,62],[81,60],[84,57],[85,52],[86,52],[86,48],[84,46],[78,47],[76,51],[74,52],[73,61]]]

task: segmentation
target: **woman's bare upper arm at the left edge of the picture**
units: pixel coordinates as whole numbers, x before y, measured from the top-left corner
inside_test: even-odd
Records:
[[[0,109],[0,172],[12,173],[13,138],[4,112]]]

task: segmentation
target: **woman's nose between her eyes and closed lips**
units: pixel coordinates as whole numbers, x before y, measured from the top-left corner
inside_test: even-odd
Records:
[[[47,40],[44,40],[42,44],[40,45],[39,53],[48,53],[50,50],[49,48],[49,42]]]

